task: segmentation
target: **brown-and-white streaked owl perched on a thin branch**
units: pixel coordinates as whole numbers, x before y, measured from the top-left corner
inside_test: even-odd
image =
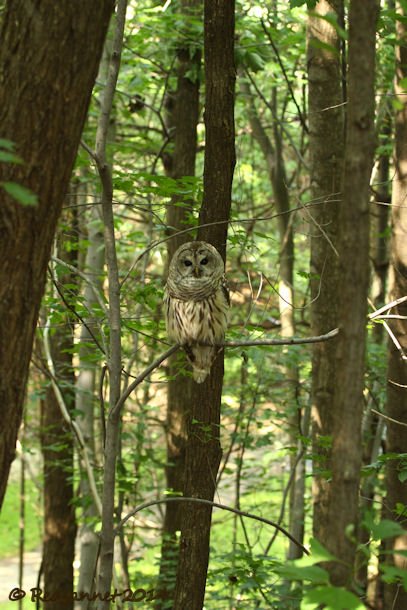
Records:
[[[224,340],[229,308],[225,266],[216,248],[205,241],[178,248],[170,263],[164,304],[168,337],[184,347],[193,378],[202,383],[210,373],[216,344]]]

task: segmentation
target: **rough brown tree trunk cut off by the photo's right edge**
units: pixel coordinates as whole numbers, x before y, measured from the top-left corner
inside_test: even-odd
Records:
[[[398,5],[398,13],[404,19],[405,9]],[[391,245],[391,299],[397,299],[407,294],[407,102],[405,87],[400,86],[401,79],[407,77],[407,47],[405,39],[407,27],[405,21],[397,21],[397,38],[400,45],[397,47],[396,64],[396,94],[402,104],[396,114],[395,126],[395,178],[393,180],[392,194],[392,245]],[[402,303],[392,310],[392,313],[407,315],[407,304]],[[407,324],[406,320],[393,320],[391,327],[407,354]],[[394,382],[394,383],[393,383]],[[404,387],[395,385],[401,384]],[[407,361],[392,341],[389,342],[388,357],[388,389],[387,389],[387,415],[393,419],[407,423]],[[387,451],[389,453],[405,454],[407,447],[407,428],[392,422],[387,422]],[[391,519],[400,520],[395,512],[397,504],[407,505],[407,486],[405,481],[399,479],[400,461],[388,462],[386,473],[387,498],[386,506]],[[407,531],[404,536],[397,536],[388,541],[386,550],[407,550]],[[406,569],[406,558],[402,555],[393,555],[388,558],[399,568]],[[407,608],[407,591],[398,585],[385,585],[384,608],[404,610]]]

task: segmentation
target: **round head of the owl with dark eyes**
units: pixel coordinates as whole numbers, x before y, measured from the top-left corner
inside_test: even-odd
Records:
[[[199,300],[217,290],[224,272],[225,265],[216,248],[206,241],[190,241],[174,253],[167,287],[176,298]]]

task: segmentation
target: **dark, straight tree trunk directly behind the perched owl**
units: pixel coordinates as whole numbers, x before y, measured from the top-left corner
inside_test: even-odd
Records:
[[[235,165],[233,0],[205,2],[205,166],[200,224],[229,218]],[[202,227],[198,238],[212,243],[225,258],[227,223]],[[212,500],[221,459],[219,441],[223,354],[211,374],[195,385],[186,450],[186,496]],[[177,610],[201,610],[209,558],[212,510],[189,505],[182,517],[175,591]]]

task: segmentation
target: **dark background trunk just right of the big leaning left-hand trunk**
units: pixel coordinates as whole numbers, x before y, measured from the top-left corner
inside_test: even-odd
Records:
[[[66,237],[77,239],[74,213],[66,213],[66,227],[59,234],[58,257],[70,265],[76,265],[75,248],[66,250]],[[68,223],[71,224],[69,228]],[[74,285],[72,273],[56,278],[60,289],[65,284]],[[55,288],[52,286],[52,290]],[[64,294],[69,299],[69,295]],[[69,412],[75,405],[75,374],[72,365],[74,346],[73,328],[66,316],[65,323],[51,329],[50,347],[55,367],[56,382]],[[63,601],[44,602],[46,610],[72,610],[73,561],[75,557],[76,521],[73,470],[74,446],[72,431],[66,423],[54,388],[48,385],[41,402],[41,444],[44,458],[44,544],[42,555],[44,589],[61,594]]]

